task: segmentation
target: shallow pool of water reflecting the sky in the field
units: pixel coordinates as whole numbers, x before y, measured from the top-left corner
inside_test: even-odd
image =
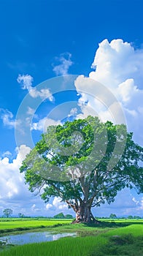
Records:
[[[0,237],[0,241],[6,242],[7,244],[31,244],[31,243],[40,243],[45,241],[54,241],[59,238],[66,236],[77,236],[77,233],[58,233],[53,234],[50,232],[31,232],[23,233],[20,235],[9,235]]]

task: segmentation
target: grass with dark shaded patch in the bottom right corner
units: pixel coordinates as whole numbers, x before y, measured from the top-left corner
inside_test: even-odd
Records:
[[[120,227],[115,230],[109,230],[107,233],[104,233],[101,236],[107,238],[107,244],[101,246],[99,251],[97,251],[97,249],[94,248],[90,256],[143,255],[142,225],[138,224],[129,225],[127,227]]]

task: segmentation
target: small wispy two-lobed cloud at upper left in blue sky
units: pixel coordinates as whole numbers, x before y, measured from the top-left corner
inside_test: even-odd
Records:
[[[54,97],[50,92],[50,89],[37,90],[36,87],[32,87],[34,78],[31,75],[18,75],[17,81],[21,84],[23,90],[28,90],[28,93],[32,98],[40,97],[41,99],[49,99],[53,102]]]

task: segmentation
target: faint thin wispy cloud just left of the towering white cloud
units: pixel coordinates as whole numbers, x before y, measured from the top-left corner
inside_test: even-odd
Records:
[[[57,65],[53,64],[55,75],[67,75],[69,67],[73,64],[71,61],[71,53],[62,53],[59,58],[55,58],[55,61],[58,62]]]

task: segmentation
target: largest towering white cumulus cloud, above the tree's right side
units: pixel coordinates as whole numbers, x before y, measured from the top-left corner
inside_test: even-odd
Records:
[[[114,39],[112,42],[104,39],[98,45],[92,64],[94,70],[89,74],[90,80],[103,84],[116,97],[125,114],[128,130],[134,132],[134,139],[139,144],[143,143],[142,63],[143,49],[136,50],[131,43],[123,42],[123,39]],[[82,116],[86,116],[87,112],[90,114],[88,109],[93,109],[96,112],[94,115],[99,116],[103,121],[115,121],[118,115],[115,104],[112,105],[112,115],[111,107],[107,104],[110,98],[104,91],[101,95],[97,95],[93,82],[86,83],[86,80],[87,78],[80,76],[75,82],[77,91],[81,95],[79,105]],[[84,93],[84,90],[88,93]],[[92,97],[95,94],[98,97]]]

